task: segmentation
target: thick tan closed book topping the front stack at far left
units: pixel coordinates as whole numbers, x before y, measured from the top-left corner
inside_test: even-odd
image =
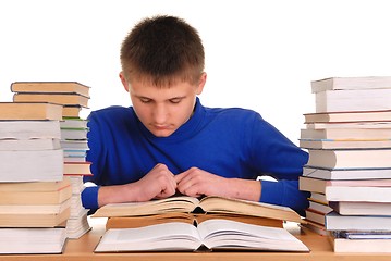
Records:
[[[62,120],[62,105],[49,102],[0,102],[0,120]]]

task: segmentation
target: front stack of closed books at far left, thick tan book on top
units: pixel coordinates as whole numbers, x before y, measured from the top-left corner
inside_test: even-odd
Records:
[[[60,120],[59,104],[0,102],[0,253],[62,252],[72,190]]]

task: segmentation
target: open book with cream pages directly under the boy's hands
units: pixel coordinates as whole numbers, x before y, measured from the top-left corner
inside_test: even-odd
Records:
[[[146,202],[112,203],[99,208],[94,216],[145,216],[169,212],[205,213],[205,214],[232,214],[292,221],[301,223],[301,216],[292,209],[281,206],[260,203],[240,199],[229,199],[209,196],[197,199],[187,196],[178,196],[167,199]]]

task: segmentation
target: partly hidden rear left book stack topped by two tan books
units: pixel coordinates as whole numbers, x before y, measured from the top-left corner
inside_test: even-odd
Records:
[[[11,85],[14,102],[53,102],[63,107],[61,148],[63,149],[64,176],[71,178],[71,216],[66,224],[69,238],[78,238],[90,229],[87,212],[81,200],[83,176],[91,175],[86,161],[87,121],[80,112],[88,108],[90,87],[77,82],[15,82]]]

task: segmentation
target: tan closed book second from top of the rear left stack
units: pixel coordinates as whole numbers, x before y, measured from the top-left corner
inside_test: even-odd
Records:
[[[14,102],[52,102],[62,105],[80,105],[88,108],[89,97],[77,94],[24,94],[13,95]]]

